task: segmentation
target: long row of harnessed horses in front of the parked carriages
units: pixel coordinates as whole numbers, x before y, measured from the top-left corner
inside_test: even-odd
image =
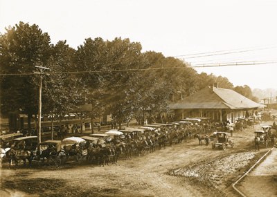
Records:
[[[186,126],[184,129],[162,129],[161,131],[145,131],[145,133],[137,133],[136,135],[126,135],[124,139],[114,138],[111,141],[107,141],[102,144],[94,144],[92,142],[86,142],[78,144],[78,146],[72,146],[69,151],[62,149],[57,151],[54,147],[48,147],[41,153],[37,153],[36,160],[47,161],[51,156],[55,155],[62,160],[68,156],[78,156],[86,151],[85,156],[87,162],[95,163],[100,166],[109,165],[109,163],[115,164],[118,162],[118,158],[125,160],[131,159],[133,156],[144,156],[147,153],[152,153],[157,149],[166,149],[171,147],[172,144],[179,144],[181,142],[188,142],[193,138],[199,140],[199,144],[202,144],[202,140],[205,140],[208,144],[207,136],[204,126]],[[206,141],[207,140],[207,141]],[[9,162],[9,167],[12,161],[15,165],[19,160],[28,160],[28,165],[32,165],[34,159],[34,153],[26,149],[15,149],[14,147],[8,149],[1,149],[1,159],[6,158]]]

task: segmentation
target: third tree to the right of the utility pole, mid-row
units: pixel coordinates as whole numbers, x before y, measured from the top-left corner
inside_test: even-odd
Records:
[[[112,64],[105,66],[105,93],[107,113],[111,113],[114,121],[121,124],[133,118],[135,110],[136,86],[138,73],[128,71],[143,67],[141,44],[129,39],[116,38],[107,41],[107,59]]]

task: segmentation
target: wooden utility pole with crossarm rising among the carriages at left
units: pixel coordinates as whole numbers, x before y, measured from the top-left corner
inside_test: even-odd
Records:
[[[35,66],[35,68],[39,69],[39,72],[35,72],[35,74],[39,75],[39,109],[38,109],[38,128],[37,128],[37,142],[38,144],[42,142],[42,79],[44,76],[44,71],[50,71],[50,68]]]

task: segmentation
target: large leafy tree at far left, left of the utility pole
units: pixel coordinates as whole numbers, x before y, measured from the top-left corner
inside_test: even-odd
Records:
[[[48,66],[50,37],[39,26],[19,22],[0,36],[1,112],[37,113],[38,79],[35,66]]]

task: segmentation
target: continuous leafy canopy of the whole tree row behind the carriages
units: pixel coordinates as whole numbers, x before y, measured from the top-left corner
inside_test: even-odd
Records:
[[[44,114],[62,115],[88,103],[91,118],[105,113],[121,123],[144,120],[145,112],[155,118],[168,112],[169,102],[215,82],[255,100],[249,86],[234,87],[226,77],[198,74],[180,59],[141,50],[139,42],[120,37],[87,38],[75,50],[66,41],[51,44],[39,26],[19,22],[0,35],[1,73],[11,74],[0,79],[1,112],[37,113],[35,66],[51,68],[44,76]]]

